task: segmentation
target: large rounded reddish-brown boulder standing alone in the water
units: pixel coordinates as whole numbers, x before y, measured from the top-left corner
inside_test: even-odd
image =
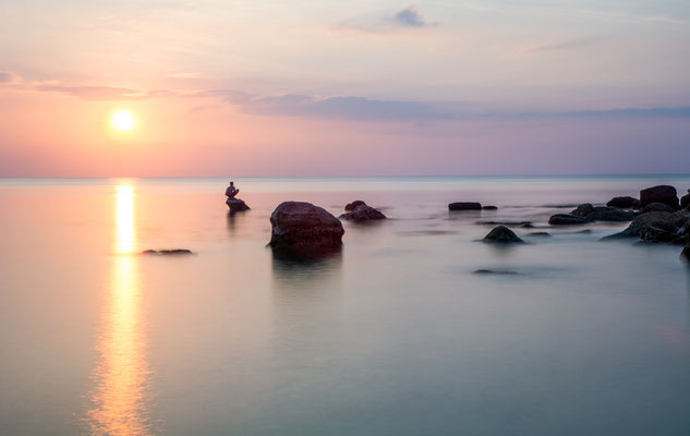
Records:
[[[340,252],[342,223],[327,210],[303,202],[283,202],[270,215],[275,254],[291,258],[319,258]]]

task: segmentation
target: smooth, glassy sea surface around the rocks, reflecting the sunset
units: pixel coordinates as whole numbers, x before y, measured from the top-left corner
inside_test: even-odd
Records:
[[[546,226],[688,177],[0,181],[0,434],[688,435],[679,247]],[[274,259],[285,199],[364,199],[340,256]],[[452,201],[498,211],[455,213]],[[547,206],[547,207],[545,207]],[[184,247],[186,257],[146,249]],[[479,268],[518,274],[484,276]]]

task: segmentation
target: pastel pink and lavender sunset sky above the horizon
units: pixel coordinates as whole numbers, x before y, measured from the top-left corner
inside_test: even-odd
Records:
[[[0,0],[0,177],[688,173],[688,41],[687,0]]]

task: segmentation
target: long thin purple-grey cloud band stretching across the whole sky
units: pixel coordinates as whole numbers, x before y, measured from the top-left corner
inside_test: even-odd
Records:
[[[61,83],[27,83],[13,72],[0,72],[0,84],[13,89],[64,94],[89,101],[145,100],[156,98],[220,99],[241,112],[266,117],[302,117],[351,121],[438,122],[489,119],[540,118],[682,118],[690,119],[690,106],[630,107],[607,110],[569,110],[554,112],[501,111],[482,108],[468,101],[386,100],[362,96],[315,96],[305,94],[259,95],[240,89],[135,89],[118,86],[64,85]],[[207,109],[197,106],[193,111]]]

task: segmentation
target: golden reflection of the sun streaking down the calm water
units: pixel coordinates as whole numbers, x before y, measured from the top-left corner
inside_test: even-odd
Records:
[[[96,435],[155,433],[135,244],[134,186],[121,182],[116,186],[114,255],[87,412],[89,431]]]

